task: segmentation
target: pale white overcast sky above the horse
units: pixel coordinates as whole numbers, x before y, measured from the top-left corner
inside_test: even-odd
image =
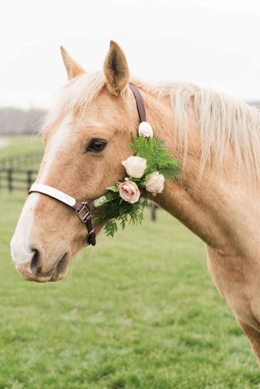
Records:
[[[260,100],[259,0],[24,0],[1,9],[0,107],[49,107],[67,81],[60,45],[93,71],[111,39],[134,75]]]

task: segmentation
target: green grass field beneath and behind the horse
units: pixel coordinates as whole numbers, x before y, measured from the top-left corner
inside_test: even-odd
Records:
[[[12,137],[1,156],[34,152]],[[256,359],[207,271],[204,244],[162,210],[28,282],[10,240],[26,192],[0,189],[0,388],[260,388]]]

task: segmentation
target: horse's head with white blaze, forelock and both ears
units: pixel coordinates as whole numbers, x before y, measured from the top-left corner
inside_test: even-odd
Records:
[[[103,72],[86,73],[63,47],[61,54],[69,82],[46,118],[44,157],[35,182],[88,202],[124,176],[121,161],[131,155],[127,145],[139,116],[118,44],[111,41]],[[27,280],[59,280],[86,244],[86,234],[73,209],[31,193],[11,241],[12,259]]]

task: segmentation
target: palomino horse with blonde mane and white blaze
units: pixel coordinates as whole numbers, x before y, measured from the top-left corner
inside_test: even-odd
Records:
[[[139,116],[140,91],[154,135],[183,162],[181,183],[153,200],[206,244],[209,272],[248,336],[260,364],[260,112],[186,82],[130,79],[111,42],[104,71],[86,73],[61,48],[69,83],[44,123],[37,181],[90,201],[122,177]],[[98,232],[102,226],[96,226]],[[49,196],[28,196],[11,242],[20,275],[57,281],[86,242],[75,211]]]

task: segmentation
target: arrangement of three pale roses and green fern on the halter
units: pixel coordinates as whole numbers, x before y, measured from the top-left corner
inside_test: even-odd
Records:
[[[94,202],[94,223],[106,223],[106,234],[111,236],[118,230],[117,221],[123,229],[127,222],[142,224],[149,196],[162,193],[165,180],[181,179],[181,162],[171,156],[163,140],[143,135],[132,139],[129,147],[135,156],[122,161],[129,177],[107,187],[108,192]]]

